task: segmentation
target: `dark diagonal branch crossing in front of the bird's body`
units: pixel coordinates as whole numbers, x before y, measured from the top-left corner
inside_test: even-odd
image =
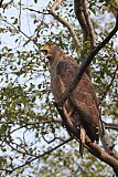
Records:
[[[77,72],[75,73],[74,79],[69,82],[67,88],[61,96],[61,98],[56,102],[58,106],[62,106],[64,102],[71,96],[73,90],[77,86],[78,82],[81,81],[82,76],[84,75],[85,71],[89,66],[93,59],[96,56],[96,54],[110,41],[110,39],[114,37],[114,34],[118,30],[118,15],[116,18],[116,27],[114,30],[109,33],[109,35],[98,45],[96,46],[86,58],[86,60],[82,63]]]

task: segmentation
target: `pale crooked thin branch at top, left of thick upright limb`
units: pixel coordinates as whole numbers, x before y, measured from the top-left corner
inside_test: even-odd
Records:
[[[53,6],[50,8],[49,12],[57,20],[60,21],[64,27],[67,28],[68,32],[71,33],[71,37],[73,38],[74,40],[74,43],[75,43],[75,46],[76,48],[79,48],[81,44],[79,44],[79,41],[76,37],[76,33],[73,29],[73,27],[71,25],[71,23],[68,23],[65,19],[63,19],[55,10],[56,8],[61,4],[62,0],[56,0]]]

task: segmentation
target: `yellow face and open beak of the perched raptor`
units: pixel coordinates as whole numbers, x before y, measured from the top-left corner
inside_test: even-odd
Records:
[[[51,55],[51,51],[54,48],[54,45],[52,43],[45,43],[42,48],[41,48],[41,52],[49,58]]]

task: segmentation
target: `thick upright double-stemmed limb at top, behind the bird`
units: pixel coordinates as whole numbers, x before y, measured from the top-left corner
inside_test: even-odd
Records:
[[[94,50],[96,46],[95,30],[88,13],[88,1],[74,0],[74,10],[76,18],[83,29],[83,53],[85,53],[84,58],[86,58],[89,52],[89,48],[90,50]],[[92,80],[90,66],[86,70],[86,73]]]

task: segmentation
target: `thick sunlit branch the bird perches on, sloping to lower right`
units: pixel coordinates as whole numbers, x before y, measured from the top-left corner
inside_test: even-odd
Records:
[[[64,110],[60,108],[57,105],[55,106],[66,126],[68,134],[79,143],[79,131],[74,126],[73,123],[71,123],[71,119],[68,118],[68,115],[65,114]],[[114,154],[112,152],[109,152],[110,154],[108,154],[96,143],[92,143],[87,136],[86,136],[85,147],[88,149],[90,154],[93,154],[98,159],[103,160],[104,163],[112,167],[116,175],[118,175],[118,156],[116,154]]]

